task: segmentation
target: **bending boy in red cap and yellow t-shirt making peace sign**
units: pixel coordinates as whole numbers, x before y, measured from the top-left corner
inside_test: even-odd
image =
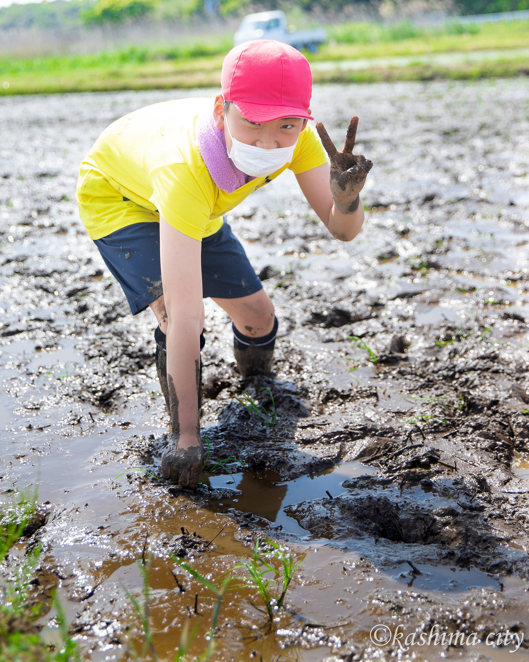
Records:
[[[352,154],[358,118],[343,152],[317,125],[329,168],[308,125],[311,86],[309,64],[291,46],[241,44],[224,60],[214,101],[130,113],[104,130],[81,164],[83,223],[132,313],[149,306],[159,324],[156,366],[171,414],[162,471],[183,488],[196,489],[204,463],[202,297],[231,317],[241,375],[267,374],[272,365],[274,307],[224,214],[288,167],[335,238],[352,240],[364,221],[358,194],[372,164]]]

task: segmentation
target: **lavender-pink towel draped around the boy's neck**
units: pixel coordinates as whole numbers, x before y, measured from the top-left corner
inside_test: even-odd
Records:
[[[223,191],[233,193],[255,179],[235,167],[227,156],[224,131],[215,126],[211,111],[202,113],[196,120],[196,142],[213,181]]]

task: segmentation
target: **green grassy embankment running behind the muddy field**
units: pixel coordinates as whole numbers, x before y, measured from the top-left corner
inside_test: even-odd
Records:
[[[329,26],[329,43],[311,62],[390,56],[471,52],[529,47],[529,22],[444,28],[417,28],[410,24]],[[85,56],[0,59],[0,95],[216,87],[220,68],[231,46],[231,35],[182,46],[140,47]],[[529,75],[529,58],[497,59],[450,66],[417,64],[375,66],[361,70],[315,71],[316,82],[368,83],[383,80],[478,79]],[[4,85],[2,86],[2,83]],[[6,83],[9,83],[7,87]]]

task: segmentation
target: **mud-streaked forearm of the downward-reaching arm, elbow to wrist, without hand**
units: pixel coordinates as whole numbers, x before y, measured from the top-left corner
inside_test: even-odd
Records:
[[[167,326],[167,386],[173,437],[195,440],[199,436],[198,374],[200,330],[198,320]]]

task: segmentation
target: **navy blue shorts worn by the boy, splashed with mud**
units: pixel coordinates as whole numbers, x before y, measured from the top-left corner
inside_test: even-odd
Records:
[[[161,296],[158,223],[134,223],[94,243],[123,288],[133,315]],[[218,232],[202,240],[202,297],[239,299],[262,287],[241,242],[224,219]]]

